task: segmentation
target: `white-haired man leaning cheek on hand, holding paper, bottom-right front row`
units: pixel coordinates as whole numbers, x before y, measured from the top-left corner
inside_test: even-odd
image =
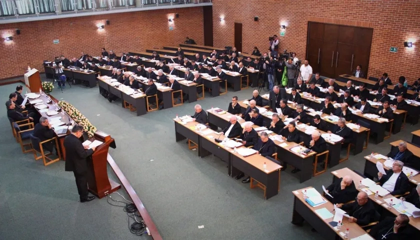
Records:
[[[351,176],[345,175],[325,188],[325,198],[332,203],[345,203],[353,200],[357,192]]]

